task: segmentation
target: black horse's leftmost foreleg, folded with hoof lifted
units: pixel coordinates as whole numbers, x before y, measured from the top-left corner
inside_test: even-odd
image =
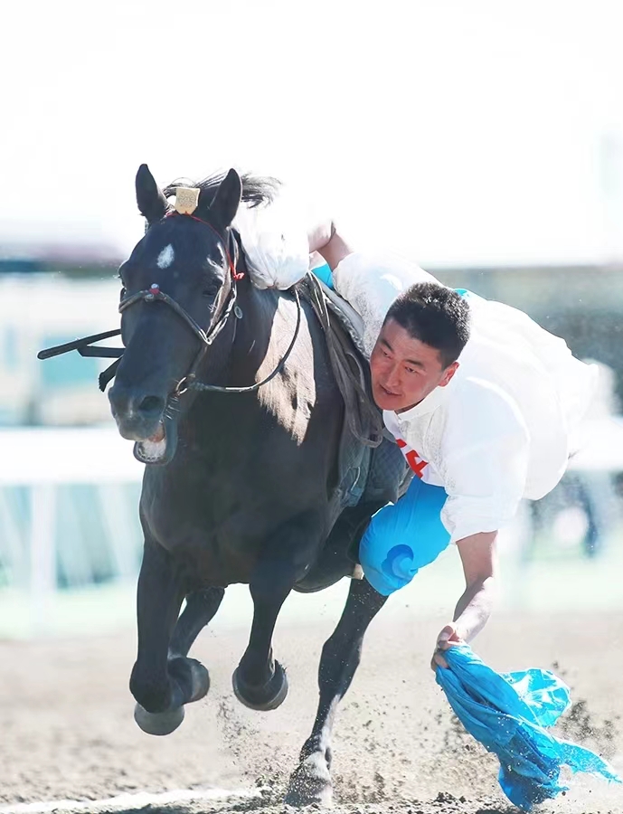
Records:
[[[134,718],[147,734],[169,734],[184,720],[184,704],[202,698],[208,671],[194,658],[168,660],[169,642],[184,599],[184,578],[173,557],[146,539],[138,577],[137,661],[130,692]]]

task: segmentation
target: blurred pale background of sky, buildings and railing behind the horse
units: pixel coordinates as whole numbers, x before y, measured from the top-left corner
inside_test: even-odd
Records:
[[[504,601],[622,607],[621,23],[614,0],[6,11],[0,636],[134,624],[142,472],[98,390],[106,360],[36,353],[118,326],[142,162],[161,185],[275,175],[355,246],[522,308],[599,363],[584,450],[505,534]],[[456,568],[411,601],[448,604]]]

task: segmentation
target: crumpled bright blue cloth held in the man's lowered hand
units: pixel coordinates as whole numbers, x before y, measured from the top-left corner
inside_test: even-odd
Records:
[[[467,645],[444,651],[437,683],[469,734],[500,761],[506,797],[525,811],[567,790],[562,766],[623,782],[599,755],[545,731],[571,703],[569,687],[549,670],[496,673]]]

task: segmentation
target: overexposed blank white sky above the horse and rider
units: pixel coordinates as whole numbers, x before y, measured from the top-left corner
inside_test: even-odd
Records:
[[[309,189],[423,264],[623,258],[618,0],[3,10],[0,242],[127,252],[137,166]]]

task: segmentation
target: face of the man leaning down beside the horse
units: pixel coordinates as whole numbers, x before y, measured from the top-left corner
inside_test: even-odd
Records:
[[[388,319],[370,357],[374,401],[382,410],[404,412],[445,387],[457,368],[458,362],[444,367],[436,348]]]

